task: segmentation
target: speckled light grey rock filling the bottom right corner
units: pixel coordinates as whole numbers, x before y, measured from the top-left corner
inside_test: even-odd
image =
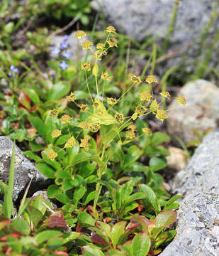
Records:
[[[219,194],[190,194],[178,211],[176,237],[160,256],[218,256],[218,221]]]

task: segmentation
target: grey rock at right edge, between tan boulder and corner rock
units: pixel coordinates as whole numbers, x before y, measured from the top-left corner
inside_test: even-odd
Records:
[[[198,191],[219,194],[219,132],[208,134],[186,169],[172,181],[174,193],[187,196]]]

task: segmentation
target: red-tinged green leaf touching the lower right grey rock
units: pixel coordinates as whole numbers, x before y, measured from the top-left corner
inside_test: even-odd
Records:
[[[177,213],[174,210],[165,210],[159,213],[155,218],[155,224],[157,228],[167,227],[176,221]]]

